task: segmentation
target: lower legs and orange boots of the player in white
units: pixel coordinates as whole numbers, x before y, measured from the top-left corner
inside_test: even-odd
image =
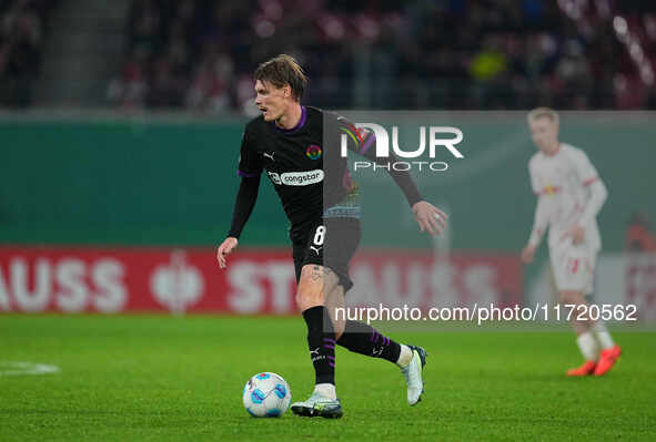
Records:
[[[583,366],[567,370],[567,376],[605,374],[622,354],[622,349],[613,342],[610,335],[603,325],[589,319],[589,305],[582,292],[563,290],[561,291],[561,301],[577,306],[572,317],[572,327],[576,333],[576,343],[585,358]],[[597,335],[602,345],[601,352],[595,335]]]

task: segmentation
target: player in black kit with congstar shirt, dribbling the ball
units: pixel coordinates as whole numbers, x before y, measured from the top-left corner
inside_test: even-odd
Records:
[[[305,417],[342,417],[334,381],[335,346],[398,366],[407,383],[407,402],[414,405],[423,393],[426,351],[395,342],[364,322],[337,320],[334,315],[335,308],[344,307],[344,294],[353,286],[349,263],[360,243],[360,206],[346,158],[327,155],[326,150],[339,150],[340,134],[346,133],[349,150],[376,161],[375,148],[371,148],[375,137],[341,116],[301,105],[307,79],[293,58],[283,54],[262,63],[254,76],[255,104],[262,115],[245,127],[238,169],[241,184],[230,233],[216,253],[219,265],[225,268],[226,256],[238,245],[265,169],[291,223],[296,304],[307,325],[315,372],[312,395],[293,403],[292,411]],[[335,142],[324,145],[326,140]],[[422,199],[407,172],[388,173],[421,230],[441,234],[446,215]]]

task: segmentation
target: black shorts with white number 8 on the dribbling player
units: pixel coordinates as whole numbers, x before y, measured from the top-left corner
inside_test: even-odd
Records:
[[[290,233],[293,244],[296,282],[307,264],[325,266],[340,278],[346,292],[353,287],[349,264],[360,244],[360,219],[325,218],[306,223]]]

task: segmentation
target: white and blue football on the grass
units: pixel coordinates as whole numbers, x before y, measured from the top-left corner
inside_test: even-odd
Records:
[[[244,386],[244,408],[254,418],[280,418],[287,411],[292,391],[282,376],[262,372]]]

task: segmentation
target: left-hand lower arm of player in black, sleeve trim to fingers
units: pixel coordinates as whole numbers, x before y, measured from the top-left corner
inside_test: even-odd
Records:
[[[236,201],[234,202],[234,212],[232,215],[232,224],[228,238],[221,243],[216,250],[216,260],[220,268],[226,267],[226,257],[234,250],[239,244],[239,237],[255,207],[258,201],[258,192],[260,191],[260,175],[244,176],[239,186]]]

